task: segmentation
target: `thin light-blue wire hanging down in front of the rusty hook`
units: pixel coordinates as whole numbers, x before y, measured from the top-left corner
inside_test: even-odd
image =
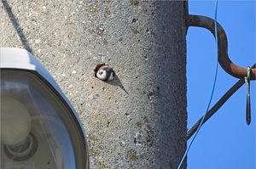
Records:
[[[197,128],[196,132],[195,132],[195,135],[194,137],[191,139],[184,155],[183,155],[183,159],[182,161],[180,161],[179,165],[177,166],[177,169],[180,169],[180,167],[182,166],[183,164],[183,161],[184,159],[186,158],[188,152],[189,152],[189,149],[191,147],[191,145],[193,144],[193,141],[195,140],[195,137],[197,135],[197,133],[200,131],[201,129],[201,126],[203,124],[203,121],[207,115],[207,112],[210,108],[210,105],[212,103],[212,97],[213,97],[213,93],[214,93],[214,90],[215,90],[215,85],[216,85],[216,80],[217,80],[217,74],[218,74],[218,30],[217,30],[217,10],[218,10],[218,0],[215,0],[215,14],[214,14],[214,28],[215,28],[215,42],[216,42],[216,45],[215,45],[215,49],[216,49],[216,69],[215,69],[215,76],[214,76],[214,82],[213,82],[213,86],[212,86],[212,93],[211,93],[211,98],[209,100],[209,104],[207,105],[207,111],[206,113],[203,115],[202,117],[202,120],[201,120],[201,123],[199,125],[199,127]]]

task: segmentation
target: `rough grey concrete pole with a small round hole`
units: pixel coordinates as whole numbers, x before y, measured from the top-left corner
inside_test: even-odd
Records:
[[[90,168],[177,168],[187,132],[184,4],[2,0],[1,46],[29,50],[67,94]],[[95,77],[101,63],[113,66],[113,82]]]

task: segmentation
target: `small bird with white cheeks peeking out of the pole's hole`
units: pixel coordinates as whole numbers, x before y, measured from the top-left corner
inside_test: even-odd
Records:
[[[114,79],[114,71],[113,68],[109,65],[102,65],[97,71],[96,71],[96,77],[101,79],[102,81],[112,81]]]

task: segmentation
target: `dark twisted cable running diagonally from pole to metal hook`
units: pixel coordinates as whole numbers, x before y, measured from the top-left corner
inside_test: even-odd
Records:
[[[255,67],[255,64],[253,65]],[[253,68],[252,67],[252,68]],[[207,111],[207,114],[205,116],[204,121],[202,122],[202,125],[207,122],[208,119],[212,117],[216,113],[216,111],[228,100],[230,99],[230,96],[232,96],[242,85],[244,84],[244,79],[240,79],[236,84],[228,90],[228,92],[224,93],[221,99],[218,100],[216,104],[213,105],[212,109]],[[193,136],[193,134],[196,132],[197,128],[199,127],[201,120],[197,121],[193,127],[190,128],[189,132],[187,132],[187,140]]]

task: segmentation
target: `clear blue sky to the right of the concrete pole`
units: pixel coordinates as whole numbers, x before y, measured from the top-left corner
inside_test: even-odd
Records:
[[[215,1],[189,0],[189,14],[214,18]],[[230,59],[241,67],[255,61],[255,1],[218,1],[218,23],[228,37]],[[188,129],[207,110],[216,67],[215,40],[210,31],[189,27],[187,34]],[[218,65],[212,104],[238,79]],[[246,87],[242,86],[207,121],[188,154],[188,169],[254,169],[255,167],[255,81],[251,81],[252,122],[247,126]],[[189,143],[189,142],[188,142]]]

